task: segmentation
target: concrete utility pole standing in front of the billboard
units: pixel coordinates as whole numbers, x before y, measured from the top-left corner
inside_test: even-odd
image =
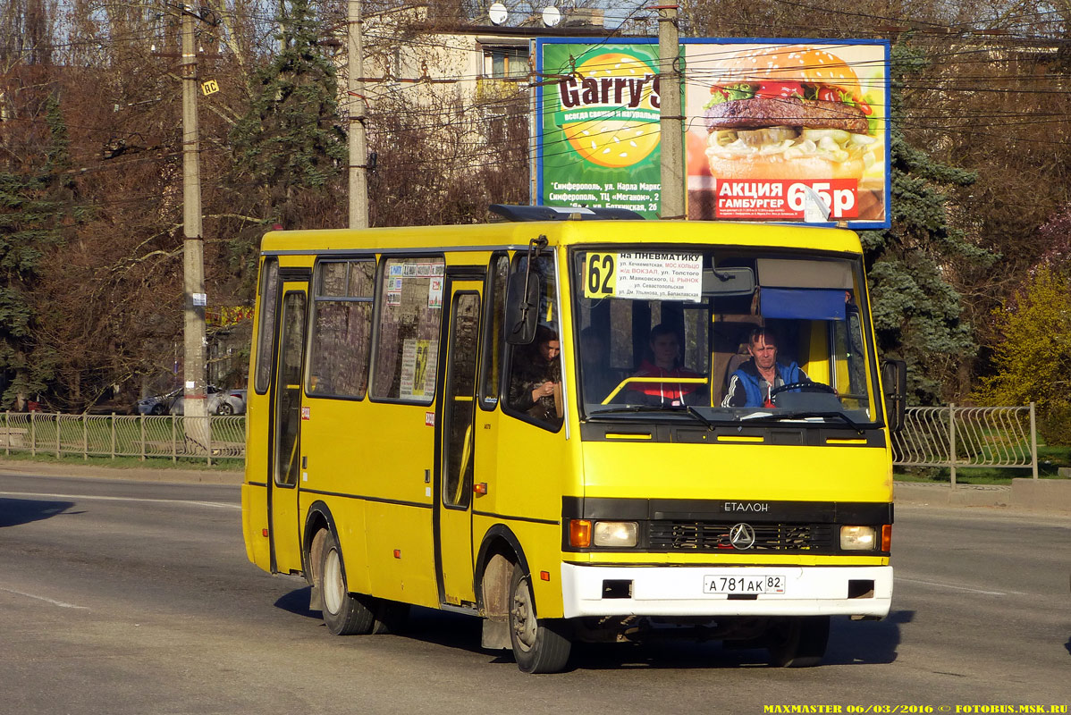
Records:
[[[684,116],[680,107],[680,41],[677,5],[655,5],[659,11],[659,96],[662,139],[662,218],[684,215]]]

